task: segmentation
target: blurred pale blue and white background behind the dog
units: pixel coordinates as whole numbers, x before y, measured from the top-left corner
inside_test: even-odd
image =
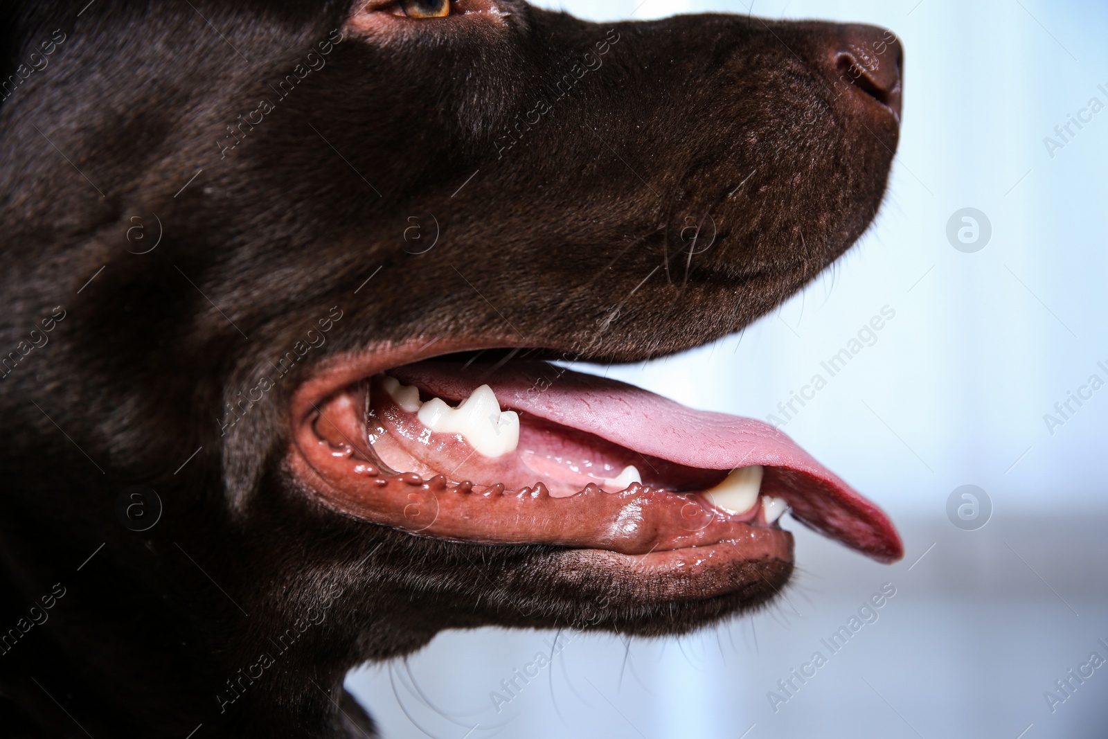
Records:
[[[593,20],[750,11],[540,4]],[[1055,132],[1091,97],[1108,105],[1108,4],[774,0],[752,12],[900,35],[904,127],[888,201],[833,269],[741,338],[609,374],[780,418],[778,403],[889,306],[876,341],[784,430],[893,516],[904,561],[876,565],[787,517],[800,572],[772,608],[679,639],[447,633],[348,677],[384,736],[1108,737],[1108,665],[1084,682],[1068,674],[1092,653],[1108,659],[1108,387],[1055,409],[1090,376],[1108,381],[1108,110],[1068,142]],[[947,238],[967,207],[992,227],[972,253]],[[947,514],[967,484],[992,507],[974,531],[982,519],[958,527]],[[895,596],[878,620],[831,654],[821,639],[885,583]],[[538,651],[551,665],[497,711],[490,694]],[[768,694],[787,697],[778,681],[814,651],[827,664],[774,706]]]

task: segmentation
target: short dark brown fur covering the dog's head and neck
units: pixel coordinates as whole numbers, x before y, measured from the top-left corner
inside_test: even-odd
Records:
[[[668,634],[773,595],[643,606],[634,584],[560,576],[552,547],[320,509],[283,463],[286,400],[328,357],[388,341],[642,360],[763,315],[866,228],[896,145],[835,89],[833,27],[592,24],[511,0],[502,27],[348,33],[277,100],[350,2],[84,4],[0,11],[9,70],[66,37],[0,106],[0,351],[65,314],[0,380],[0,628],[66,591],[0,656],[0,733],[356,736],[332,701],[345,673],[443,628]],[[274,110],[225,151],[263,99]],[[550,112],[514,129],[538,100]],[[441,229],[420,255],[401,239],[416,213]],[[160,244],[135,254],[155,216]],[[709,223],[699,250],[684,229]],[[326,343],[225,427],[332,306]],[[115,514],[132,484],[164,503],[144,533]]]

